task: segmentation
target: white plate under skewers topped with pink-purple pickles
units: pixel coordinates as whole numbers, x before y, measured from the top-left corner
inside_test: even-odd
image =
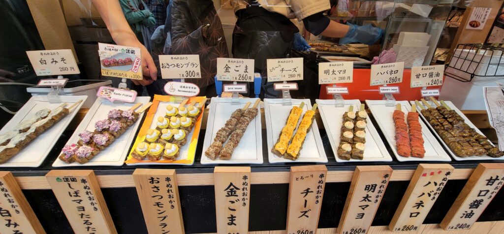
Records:
[[[108,111],[111,109],[121,109],[128,110],[130,107],[134,106],[137,102],[146,104],[150,101],[150,97],[137,97],[135,102],[132,103],[123,103],[123,104],[114,104],[108,100],[104,100],[102,98],[97,98],[93,106],[89,109],[84,119],[79,124],[74,134],[68,140],[67,144],[77,143],[79,141],[79,134],[88,130],[93,132],[95,130],[94,123],[99,120],[107,119]],[[140,109],[139,107],[138,109]],[[138,127],[140,126],[140,120],[144,116],[144,112],[142,112],[139,116],[139,120],[128,128],[119,138],[115,139],[112,144],[110,144],[107,148],[100,151],[96,156],[94,156],[89,162],[84,164],[80,164],[78,162],[66,163],[64,161],[56,158],[52,166],[54,167],[63,167],[63,166],[122,166],[124,164],[124,159],[128,156],[130,152],[130,146],[135,140],[135,133],[137,133]],[[61,153],[58,154],[58,156]]]

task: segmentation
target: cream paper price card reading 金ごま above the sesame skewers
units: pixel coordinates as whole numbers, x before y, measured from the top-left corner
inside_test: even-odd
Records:
[[[217,80],[254,81],[254,60],[217,58]]]

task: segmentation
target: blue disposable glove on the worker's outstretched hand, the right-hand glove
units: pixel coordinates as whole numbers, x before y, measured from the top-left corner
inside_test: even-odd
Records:
[[[340,44],[348,44],[352,42],[360,42],[368,45],[376,43],[382,38],[384,32],[380,27],[374,27],[370,24],[357,26],[347,22],[350,26],[345,37],[340,39]]]

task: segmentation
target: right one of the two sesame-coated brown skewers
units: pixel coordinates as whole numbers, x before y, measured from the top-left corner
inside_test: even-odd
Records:
[[[250,122],[256,118],[258,113],[257,105],[259,104],[260,101],[261,100],[258,98],[256,100],[256,103],[254,103],[254,105],[252,106],[252,108],[248,108],[245,110],[240,120],[238,121],[238,124],[236,124],[234,131],[229,136],[229,140],[224,145],[224,147],[222,147],[222,150],[220,151],[219,154],[219,159],[222,160],[231,159],[234,149],[240,143],[241,137],[243,137],[243,134],[245,133],[248,127],[248,124],[250,124]]]

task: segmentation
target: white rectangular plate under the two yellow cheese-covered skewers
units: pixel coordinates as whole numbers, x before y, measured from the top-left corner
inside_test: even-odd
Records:
[[[268,137],[268,161],[270,163],[279,162],[327,162],[326,152],[319,133],[317,121],[313,120],[311,129],[306,134],[303,147],[299,152],[299,158],[295,161],[278,157],[271,152],[285,126],[287,117],[289,116],[292,106],[299,105],[304,102],[303,115],[306,110],[311,109],[311,102],[309,99],[292,99],[292,105],[283,105],[282,99],[264,99],[264,114],[266,118],[266,136]],[[299,122],[303,116],[299,118]],[[299,123],[298,123],[299,124]],[[297,130],[297,129],[296,129]],[[294,132],[295,134],[295,132]]]

